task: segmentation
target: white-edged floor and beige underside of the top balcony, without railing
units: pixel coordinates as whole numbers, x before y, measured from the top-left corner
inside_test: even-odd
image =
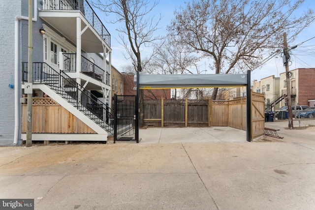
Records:
[[[58,30],[65,38],[77,45],[77,18],[81,20],[81,46],[87,53],[104,53],[110,49],[109,45],[97,33],[87,19],[76,10],[39,10],[39,17],[47,22],[54,29]]]

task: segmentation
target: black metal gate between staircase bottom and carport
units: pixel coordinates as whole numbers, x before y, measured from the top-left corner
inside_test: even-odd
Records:
[[[114,94],[114,143],[135,140],[139,143],[139,108],[136,95]]]

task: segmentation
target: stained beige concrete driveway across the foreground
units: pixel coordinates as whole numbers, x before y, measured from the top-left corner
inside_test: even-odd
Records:
[[[35,210],[315,209],[315,127],[277,123],[279,142],[150,128],[140,144],[1,147],[0,198],[35,199]],[[168,132],[183,141],[164,142]]]

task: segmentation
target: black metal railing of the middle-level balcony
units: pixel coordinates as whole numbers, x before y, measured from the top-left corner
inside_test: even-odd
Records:
[[[76,54],[75,53],[63,53],[63,69],[64,72],[76,72]],[[93,62],[81,56],[81,72],[86,74],[95,80],[101,81],[106,85],[110,85],[109,83],[109,73],[95,65]],[[104,79],[105,76],[105,79]]]

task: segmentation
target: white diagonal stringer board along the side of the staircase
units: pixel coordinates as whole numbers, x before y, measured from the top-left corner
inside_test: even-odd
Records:
[[[81,120],[83,123],[85,123],[87,126],[92,128],[97,134],[102,134],[102,135],[108,136],[108,133],[102,127],[100,127],[98,124],[96,124],[93,120],[91,120],[89,117],[87,117],[80,110],[75,108],[71,103],[69,103],[67,100],[65,100],[60,94],[58,94],[54,90],[50,89],[50,87],[48,85],[33,84],[33,89],[40,89],[43,92],[45,92],[47,95],[49,95],[49,97],[51,97],[53,100],[55,100],[58,104],[60,104],[63,108],[65,108],[67,111],[69,111],[72,115],[74,115],[79,120]]]

